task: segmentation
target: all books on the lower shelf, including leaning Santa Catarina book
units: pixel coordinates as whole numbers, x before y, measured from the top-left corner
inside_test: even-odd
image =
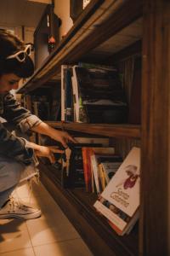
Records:
[[[122,160],[108,138],[77,137],[77,142],[57,154],[61,184],[97,193],[96,210],[118,235],[128,234],[139,218],[140,148],[133,147]]]

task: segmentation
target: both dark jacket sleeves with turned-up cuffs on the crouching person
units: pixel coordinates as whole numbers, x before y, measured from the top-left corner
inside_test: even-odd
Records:
[[[6,119],[21,132],[26,133],[34,125],[39,125],[42,120],[36,115],[31,114],[26,108],[20,107],[14,96],[8,92],[6,95],[0,95],[0,117]],[[26,140],[16,137],[8,131],[0,121],[0,155],[14,158],[23,163],[30,164],[33,155],[33,149],[26,147]]]

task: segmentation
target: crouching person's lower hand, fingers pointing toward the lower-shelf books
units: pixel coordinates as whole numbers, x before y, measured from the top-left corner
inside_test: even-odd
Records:
[[[50,160],[50,162],[52,164],[54,164],[55,162],[55,157],[54,157],[54,153],[59,153],[59,154],[63,154],[64,150],[59,149],[58,147],[53,147],[53,146],[39,146],[35,149],[35,154],[37,156],[43,156],[43,157],[47,157],[48,160]]]

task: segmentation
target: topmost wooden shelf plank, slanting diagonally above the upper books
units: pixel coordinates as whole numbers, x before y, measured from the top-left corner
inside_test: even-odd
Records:
[[[93,3],[94,2],[94,3]],[[93,3],[93,4],[92,4]],[[42,63],[18,93],[25,93],[46,83],[60,72],[63,63],[75,63],[91,49],[111,38],[142,15],[142,1],[92,1],[65,38]],[[123,45],[126,47],[126,45]]]

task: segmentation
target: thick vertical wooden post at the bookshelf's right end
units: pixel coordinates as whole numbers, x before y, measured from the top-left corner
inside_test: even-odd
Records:
[[[170,2],[144,1],[139,254],[167,256]]]

